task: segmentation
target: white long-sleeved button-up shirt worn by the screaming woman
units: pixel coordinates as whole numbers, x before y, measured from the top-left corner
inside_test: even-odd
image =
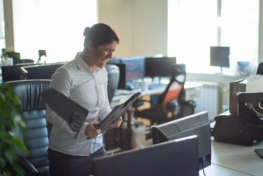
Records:
[[[80,156],[88,156],[99,149],[102,146],[102,135],[97,136],[94,144],[94,139],[87,140],[84,134],[88,123],[98,123],[98,118],[104,119],[111,111],[107,97],[106,68],[97,67],[92,73],[80,53],[77,53],[74,60],[59,67],[52,75],[50,87],[86,108],[89,113],[75,138],[76,132],[47,106],[46,118],[53,124],[49,147],[62,153]]]

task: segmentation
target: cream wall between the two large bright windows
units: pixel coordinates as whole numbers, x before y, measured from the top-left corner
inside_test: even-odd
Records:
[[[115,56],[167,55],[167,0],[98,0],[98,21],[120,36]]]

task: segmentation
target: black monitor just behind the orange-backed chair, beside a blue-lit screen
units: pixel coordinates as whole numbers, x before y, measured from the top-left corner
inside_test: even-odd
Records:
[[[145,58],[145,76],[169,77],[172,75],[171,65],[176,64],[176,57]]]

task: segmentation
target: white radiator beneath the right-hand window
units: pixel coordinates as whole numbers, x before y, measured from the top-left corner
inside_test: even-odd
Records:
[[[201,81],[201,83],[203,86],[197,88],[199,96],[196,99],[195,113],[208,111],[209,120],[212,122],[221,113],[222,98],[220,84],[207,81]]]

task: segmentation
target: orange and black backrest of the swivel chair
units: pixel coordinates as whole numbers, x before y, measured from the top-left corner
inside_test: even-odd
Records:
[[[170,82],[164,93],[158,99],[159,108],[164,110],[166,109],[167,103],[172,100],[177,100],[178,103],[180,103],[184,90],[186,78],[185,64],[174,64],[171,66],[171,71],[172,76]]]

